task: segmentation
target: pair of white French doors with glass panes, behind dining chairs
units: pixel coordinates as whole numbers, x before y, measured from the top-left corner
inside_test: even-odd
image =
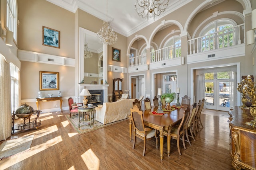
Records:
[[[229,111],[229,79],[205,80],[204,96],[206,109]]]

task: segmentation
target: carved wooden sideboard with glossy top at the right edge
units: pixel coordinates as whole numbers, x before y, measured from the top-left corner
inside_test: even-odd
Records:
[[[253,119],[250,110],[235,106],[229,115],[232,166],[256,170],[256,127],[245,124]]]

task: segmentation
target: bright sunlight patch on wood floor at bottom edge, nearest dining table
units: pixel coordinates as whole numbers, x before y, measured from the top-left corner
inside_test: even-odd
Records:
[[[81,157],[89,170],[98,170],[100,168],[100,160],[96,156],[96,154],[94,154],[92,149],[89,149],[86,152],[84,152],[84,154],[82,154]]]

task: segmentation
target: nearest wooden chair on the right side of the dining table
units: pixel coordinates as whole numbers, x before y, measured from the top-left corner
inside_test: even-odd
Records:
[[[186,149],[186,145],[185,145],[185,125],[186,125],[186,122],[188,121],[188,111],[185,110],[183,112],[183,117],[182,117],[182,120],[181,122],[174,126],[174,127],[171,127],[169,126],[168,127],[168,130],[164,130],[164,136],[167,137],[167,141],[170,141],[169,143],[167,143],[167,150],[169,152],[170,150],[170,145],[171,145],[171,139],[176,139],[177,140],[177,148],[178,148],[178,152],[179,152],[179,155],[181,155],[181,152],[180,152],[180,139],[182,139],[182,143],[183,143],[183,147],[184,149]],[[168,156],[170,155],[170,153],[168,153]]]

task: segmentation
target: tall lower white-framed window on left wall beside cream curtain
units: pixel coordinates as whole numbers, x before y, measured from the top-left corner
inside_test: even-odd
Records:
[[[11,107],[12,111],[15,111],[19,107],[19,70],[18,67],[10,63],[10,74],[11,74]]]

